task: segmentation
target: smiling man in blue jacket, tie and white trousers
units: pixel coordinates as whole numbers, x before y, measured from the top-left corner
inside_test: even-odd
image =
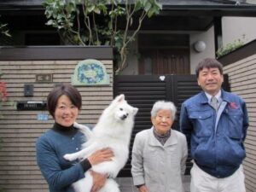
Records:
[[[201,93],[183,102],[181,131],[191,147],[191,192],[245,192],[241,166],[246,156],[247,107],[241,97],[221,89],[223,67],[215,59],[195,70]]]

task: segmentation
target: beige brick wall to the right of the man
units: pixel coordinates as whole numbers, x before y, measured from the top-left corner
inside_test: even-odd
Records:
[[[247,157],[243,166],[247,192],[253,192],[256,191],[256,54],[225,66],[224,73],[229,74],[231,91],[247,103],[250,126],[245,141]]]

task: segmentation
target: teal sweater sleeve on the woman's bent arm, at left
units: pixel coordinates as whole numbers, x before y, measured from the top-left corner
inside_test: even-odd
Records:
[[[60,190],[84,177],[84,169],[80,163],[62,169],[55,150],[47,137],[39,137],[36,144],[37,161],[50,189]]]

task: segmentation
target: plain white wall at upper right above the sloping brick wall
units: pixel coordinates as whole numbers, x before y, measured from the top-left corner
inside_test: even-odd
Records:
[[[256,38],[255,17],[223,17],[223,45],[241,39],[245,44]]]

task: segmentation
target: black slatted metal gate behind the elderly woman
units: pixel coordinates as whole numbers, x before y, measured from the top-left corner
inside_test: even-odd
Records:
[[[230,90],[228,77],[224,76],[224,90]],[[150,111],[154,102],[166,100],[174,102],[177,115],[172,128],[179,130],[179,114],[182,103],[190,96],[199,93],[195,75],[117,75],[113,78],[113,96],[125,94],[125,99],[134,107],[139,108],[131,136],[130,152],[134,137],[138,131],[149,129],[152,124]],[[119,177],[131,177],[131,153]],[[185,174],[189,174],[192,164],[187,160]]]

